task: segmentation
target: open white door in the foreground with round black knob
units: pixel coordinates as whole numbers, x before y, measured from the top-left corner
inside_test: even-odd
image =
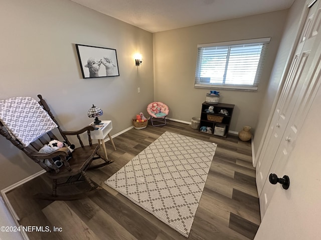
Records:
[[[320,78],[319,69],[317,77]],[[321,238],[321,89],[318,85],[314,85],[317,94],[295,146],[285,167],[278,172],[278,177],[289,176],[290,186],[284,190],[280,184],[273,185],[275,193],[255,240]]]

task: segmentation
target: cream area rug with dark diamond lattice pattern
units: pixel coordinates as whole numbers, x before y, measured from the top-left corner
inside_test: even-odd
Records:
[[[216,146],[166,131],[105,183],[188,237]]]

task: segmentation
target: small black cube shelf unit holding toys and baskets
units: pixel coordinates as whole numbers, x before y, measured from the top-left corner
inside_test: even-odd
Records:
[[[214,113],[210,113],[210,112],[205,111],[206,109],[209,108],[209,106],[214,107]],[[201,131],[201,129],[199,131],[207,133],[207,134],[214,134],[214,129],[215,129],[216,124],[225,125],[225,133],[222,137],[227,137],[227,134],[228,134],[229,128],[230,128],[230,124],[231,124],[231,120],[232,120],[234,106],[235,106],[234,104],[227,104],[227,103],[212,104],[212,103],[207,103],[206,101],[204,101],[202,103],[200,128],[202,126],[212,127],[212,132],[210,133],[210,132]],[[228,115],[219,113],[222,109],[226,109],[228,111]],[[211,116],[213,116],[214,118],[215,118],[215,116],[217,116],[218,118],[223,117],[223,119],[222,120],[210,120],[211,118],[213,118]],[[210,119],[208,119],[208,118],[210,118]]]

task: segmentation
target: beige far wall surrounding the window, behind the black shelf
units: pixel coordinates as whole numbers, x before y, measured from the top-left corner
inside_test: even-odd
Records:
[[[168,104],[171,118],[191,121],[193,116],[200,116],[210,89],[194,88],[197,44],[270,36],[258,91],[220,90],[220,102],[235,104],[230,130],[250,125],[254,132],[286,13],[275,11],[154,33],[155,100]]]

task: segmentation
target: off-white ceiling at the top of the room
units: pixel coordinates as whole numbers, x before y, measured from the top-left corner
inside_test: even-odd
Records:
[[[289,8],[294,0],[72,0],[150,32]]]

